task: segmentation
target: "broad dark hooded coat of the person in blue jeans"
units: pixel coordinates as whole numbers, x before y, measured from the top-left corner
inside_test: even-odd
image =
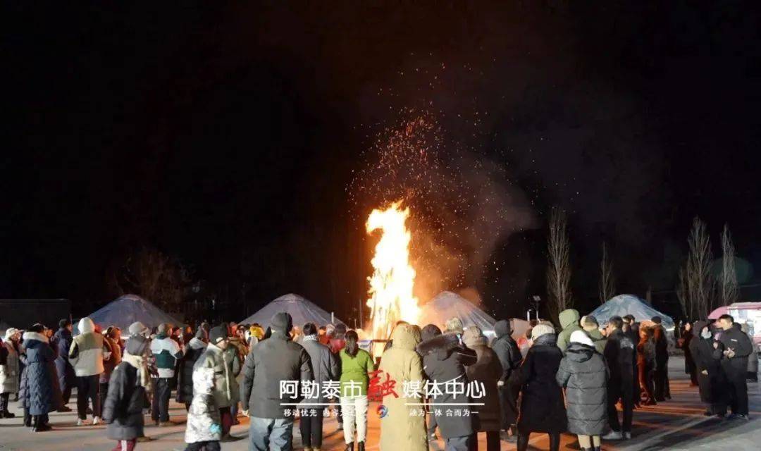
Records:
[[[309,354],[282,332],[272,335],[253,347],[246,357],[243,380],[240,382],[240,402],[256,418],[285,418],[284,409],[292,406],[281,402],[299,402],[280,399],[280,381],[314,380]],[[299,388],[299,393],[301,388]]]

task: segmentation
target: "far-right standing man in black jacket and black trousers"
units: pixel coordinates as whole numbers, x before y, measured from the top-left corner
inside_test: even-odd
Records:
[[[748,335],[740,330],[731,315],[718,317],[721,332],[721,369],[727,377],[729,401],[732,408],[731,418],[748,419],[748,356],[753,352],[753,343]],[[718,347],[718,345],[716,345]]]

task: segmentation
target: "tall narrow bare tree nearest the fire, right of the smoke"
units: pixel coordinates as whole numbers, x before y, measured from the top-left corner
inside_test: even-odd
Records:
[[[547,237],[547,293],[549,314],[558,319],[563,310],[572,306],[571,294],[571,243],[568,241],[568,218],[565,211],[553,207],[549,215]]]

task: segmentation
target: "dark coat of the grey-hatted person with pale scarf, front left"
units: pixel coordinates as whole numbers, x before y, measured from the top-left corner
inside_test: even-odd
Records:
[[[138,371],[123,361],[108,383],[108,395],[103,404],[103,421],[108,424],[107,437],[111,440],[132,440],[143,435],[142,399],[145,389],[140,386]]]

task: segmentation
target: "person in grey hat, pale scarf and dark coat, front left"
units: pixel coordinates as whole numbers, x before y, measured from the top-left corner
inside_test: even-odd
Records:
[[[132,451],[143,434],[142,409],[145,390],[150,386],[148,364],[143,354],[148,350],[148,339],[140,334],[128,340],[122,361],[111,373],[106,402],[103,404],[103,421],[107,437],[116,440],[113,451]]]

